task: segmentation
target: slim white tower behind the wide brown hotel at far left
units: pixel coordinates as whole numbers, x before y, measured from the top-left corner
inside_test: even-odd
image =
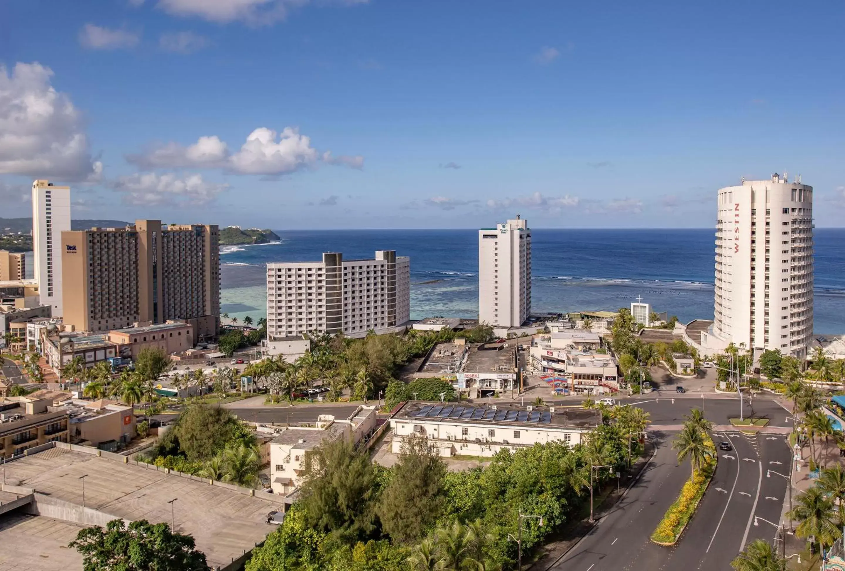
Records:
[[[35,250],[35,283],[41,305],[52,306],[61,317],[62,233],[70,231],[70,187],[53,186],[49,180],[32,183],[32,245]]]

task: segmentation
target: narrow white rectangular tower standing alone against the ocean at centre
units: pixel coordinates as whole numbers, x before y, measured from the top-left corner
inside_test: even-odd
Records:
[[[519,327],[531,313],[531,230],[520,215],[478,230],[478,321]]]

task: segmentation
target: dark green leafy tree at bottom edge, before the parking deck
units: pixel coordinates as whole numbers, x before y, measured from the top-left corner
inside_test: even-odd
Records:
[[[205,555],[194,538],[173,533],[170,525],[147,520],[112,520],[80,530],[68,547],[82,554],[83,571],[202,571]]]

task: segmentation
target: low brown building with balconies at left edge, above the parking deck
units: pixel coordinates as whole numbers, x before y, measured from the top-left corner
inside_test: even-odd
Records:
[[[0,458],[47,442],[68,442],[68,412],[50,412],[50,399],[7,396],[0,401]]]

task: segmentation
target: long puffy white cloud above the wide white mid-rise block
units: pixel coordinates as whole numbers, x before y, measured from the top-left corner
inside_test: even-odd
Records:
[[[238,175],[284,175],[303,167],[314,166],[318,161],[326,164],[341,164],[352,169],[362,169],[364,158],[319,154],[311,146],[311,139],[301,135],[296,127],[285,127],[277,133],[267,127],[259,127],[249,133],[247,140],[236,153],[231,153],[225,142],[214,135],[199,137],[188,147],[178,143],[150,148],[142,154],[129,154],[128,162],[142,169],[220,168]]]

